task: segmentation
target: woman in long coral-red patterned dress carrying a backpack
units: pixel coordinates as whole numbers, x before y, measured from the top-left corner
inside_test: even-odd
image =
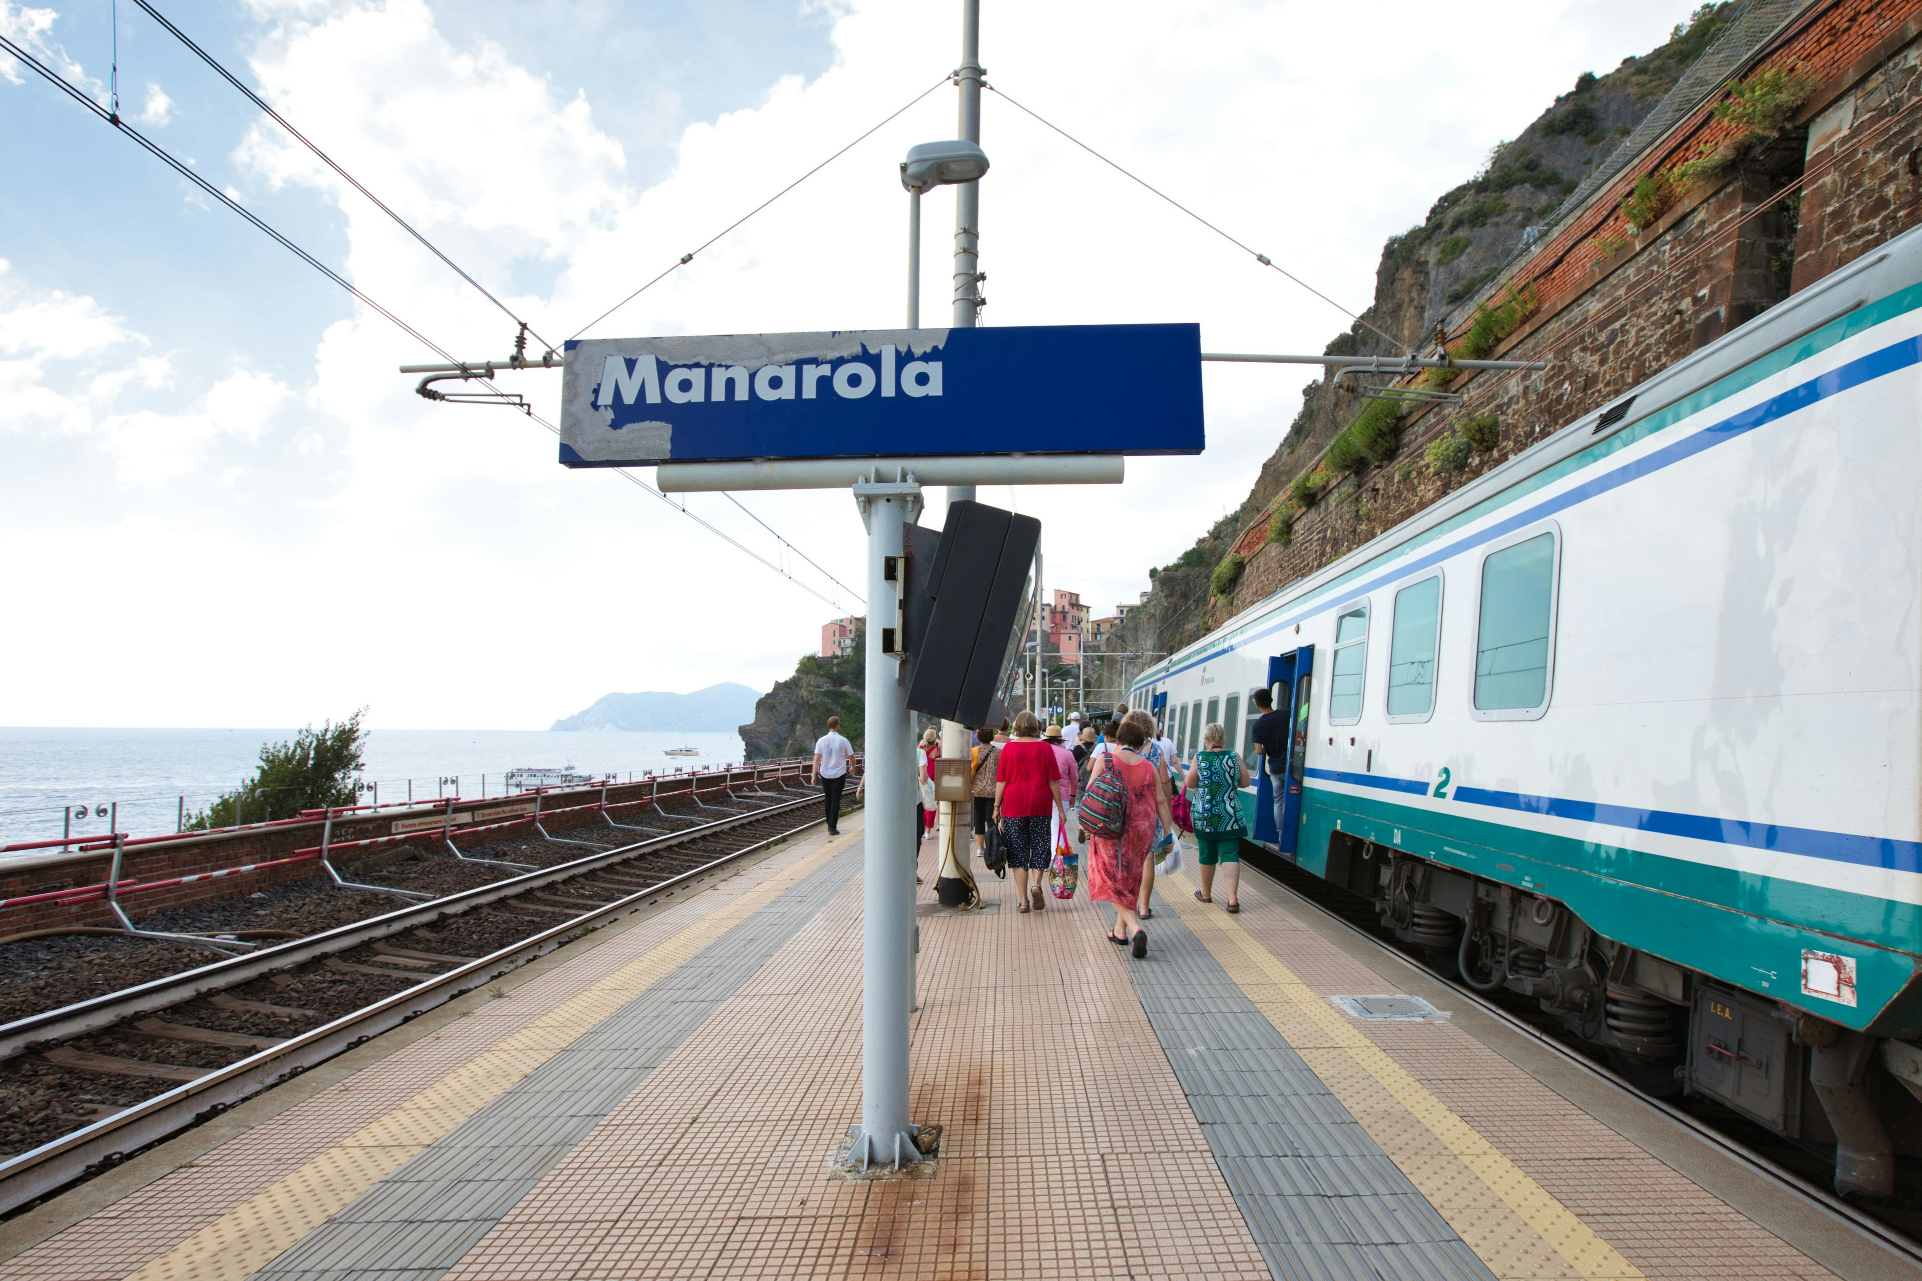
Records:
[[[1109,943],[1126,943],[1136,958],[1147,955],[1147,931],[1136,914],[1142,870],[1155,843],[1155,822],[1174,828],[1169,812],[1167,774],[1142,755],[1147,734],[1126,718],[1115,730],[1113,751],[1096,759],[1080,805],[1080,826],[1090,835],[1088,897],[1115,906]]]

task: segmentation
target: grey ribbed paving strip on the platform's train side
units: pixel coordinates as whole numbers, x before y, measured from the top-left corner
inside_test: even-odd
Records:
[[[1274,1275],[1491,1281],[1207,945],[1170,910],[1147,937],[1128,974]]]

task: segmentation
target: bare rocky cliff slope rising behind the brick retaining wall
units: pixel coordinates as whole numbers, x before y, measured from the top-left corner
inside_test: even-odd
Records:
[[[1403,346],[1432,346],[1436,325],[1451,313],[1451,328],[1459,326],[1459,313],[1476,303],[1509,255],[1524,238],[1538,236],[1555,209],[1655,109],[1736,8],[1705,4],[1661,48],[1624,58],[1607,75],[1576,79],[1520,136],[1497,146],[1480,173],[1436,200],[1420,225],[1388,238],[1372,303],[1349,330],[1328,342],[1324,353],[1401,355]],[[1176,561],[1149,570],[1147,599],[1128,613],[1107,649],[1174,653],[1224,620],[1226,607],[1217,597],[1232,597],[1238,567],[1230,549],[1370,403],[1380,401],[1363,399],[1351,384],[1309,382],[1301,413],[1261,465],[1242,505]],[[1392,440],[1386,451],[1393,451]],[[1142,663],[1130,659],[1128,666],[1138,670]],[[1115,670],[1103,670],[1099,684],[1119,689],[1119,661],[1109,666]]]

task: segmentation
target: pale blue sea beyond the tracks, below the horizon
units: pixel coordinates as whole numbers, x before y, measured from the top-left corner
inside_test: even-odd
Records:
[[[73,834],[175,832],[252,778],[263,743],[294,730],[38,730],[0,728],[0,845]],[[667,749],[692,747],[694,757]],[[573,768],[596,778],[738,764],[738,734],[628,730],[373,730],[363,803],[436,795],[500,795],[507,770]],[[85,810],[85,812],[83,812]],[[244,818],[244,814],[242,814]],[[0,855],[4,857],[4,855]]]

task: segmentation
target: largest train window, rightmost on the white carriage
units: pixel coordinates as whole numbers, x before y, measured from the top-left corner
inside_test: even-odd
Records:
[[[1534,720],[1549,705],[1555,668],[1557,530],[1499,545],[1482,559],[1474,624],[1474,714]]]

